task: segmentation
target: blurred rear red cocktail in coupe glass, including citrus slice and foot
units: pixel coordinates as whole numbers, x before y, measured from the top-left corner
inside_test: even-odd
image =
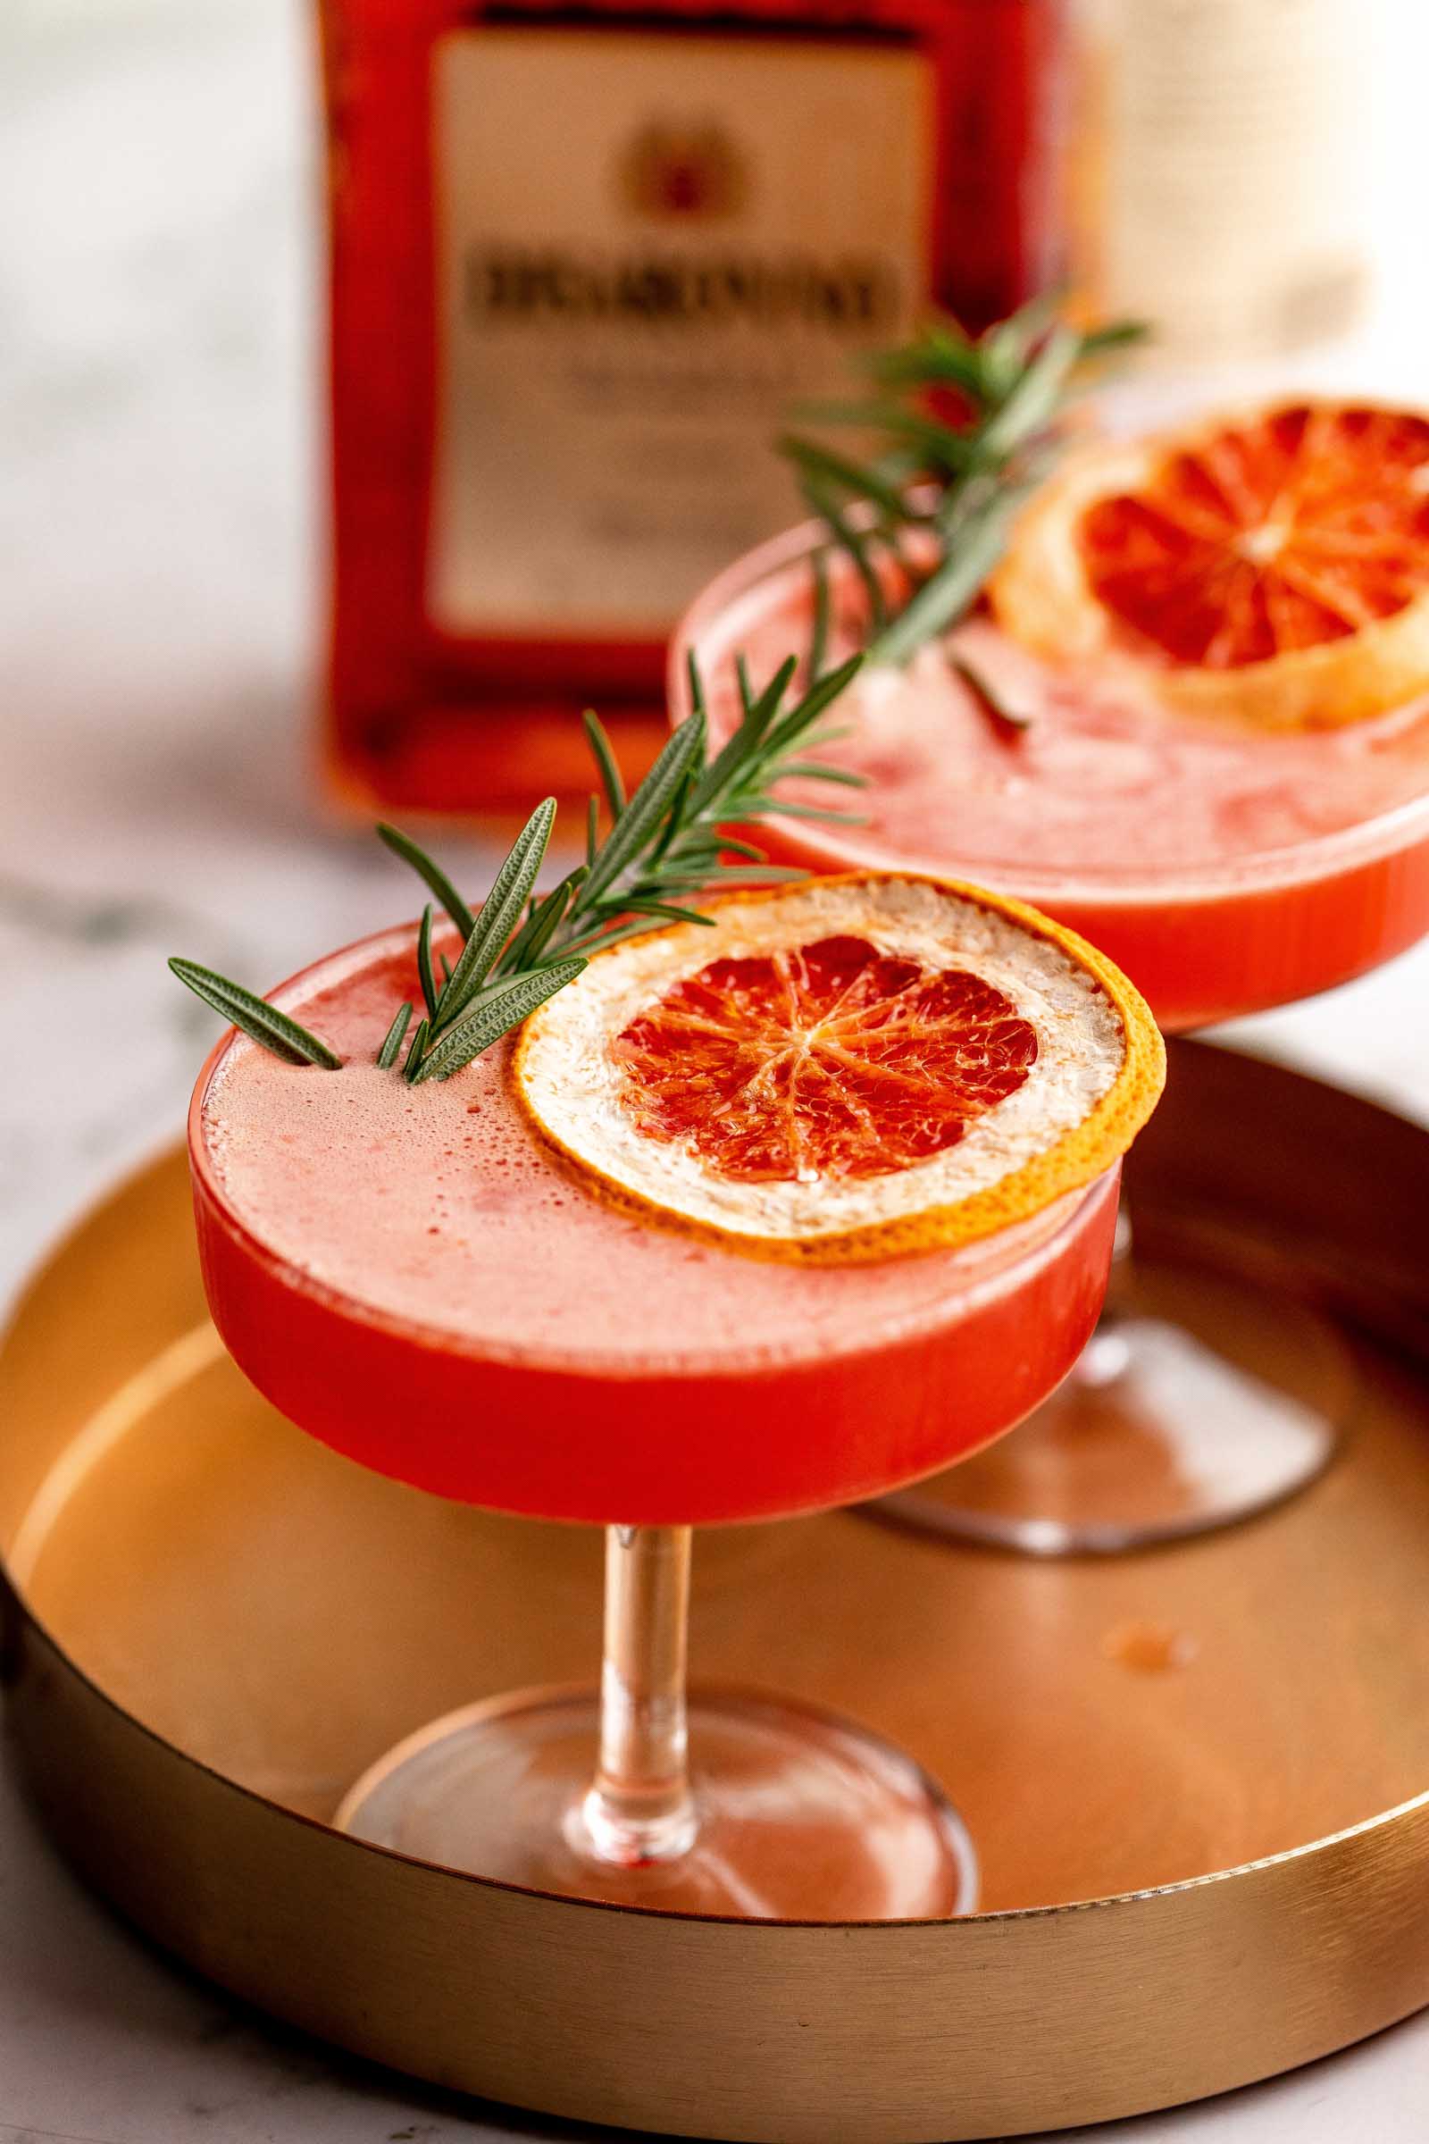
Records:
[[[816,553],[829,656],[876,643],[866,581],[827,547],[795,530],[705,590],[673,643],[677,714],[690,654],[720,738],[737,658],[761,678],[810,645]],[[900,553],[881,570],[898,594]],[[866,823],[801,817],[825,793],[791,780],[763,821],[773,853],[1018,892],[1125,967],[1165,1029],[1388,961],[1429,930],[1429,420],[1296,405],[1090,450],[1033,500],[990,602],[900,667],[874,654],[840,723],[825,757],[866,778]],[[1324,1351],[1294,1304],[1266,1316]],[[1333,1447],[1326,1413],[1213,1338],[1116,1314],[1037,1428],[900,1509],[1112,1550],[1255,1512]]]

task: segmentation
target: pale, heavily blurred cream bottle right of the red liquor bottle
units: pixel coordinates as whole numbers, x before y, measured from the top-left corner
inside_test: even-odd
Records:
[[[1082,0],[1075,279],[1174,364],[1358,326],[1375,0]]]

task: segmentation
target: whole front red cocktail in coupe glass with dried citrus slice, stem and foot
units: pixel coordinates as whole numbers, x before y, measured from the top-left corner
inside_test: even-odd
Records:
[[[274,993],[336,1070],[242,1036],[210,1057],[195,1211],[240,1368],[366,1466],[611,1529],[604,1704],[439,1722],[347,1799],[364,1837],[705,1912],[973,1904],[941,1792],[861,1730],[698,1698],[690,1784],[690,1527],[883,1492],[1056,1385],[1159,1055],[1135,993],[1031,913],[868,883],[737,896],[604,952],[452,1078],[373,1057],[418,991],[411,928]],[[675,1126],[739,1053],[739,1108]],[[613,1115],[581,1100],[602,1078]]]

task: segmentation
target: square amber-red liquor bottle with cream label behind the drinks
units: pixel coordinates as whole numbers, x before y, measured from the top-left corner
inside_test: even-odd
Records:
[[[1063,11],[324,0],[341,800],[585,787],[585,703],[649,755],[791,410],[1061,272]]]

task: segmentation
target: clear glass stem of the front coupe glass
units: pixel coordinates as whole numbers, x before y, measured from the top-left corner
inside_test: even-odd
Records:
[[[606,1527],[600,1762],[581,1805],[587,1850],[619,1867],[694,1844],[686,1762],[690,1527]]]

